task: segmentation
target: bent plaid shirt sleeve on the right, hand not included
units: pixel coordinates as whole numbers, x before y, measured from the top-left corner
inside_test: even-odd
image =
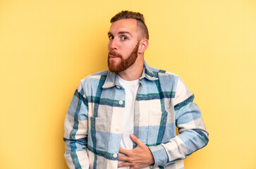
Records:
[[[153,168],[184,159],[207,145],[209,134],[202,120],[200,108],[193,103],[193,99],[194,95],[178,77],[173,106],[180,134],[166,144],[149,147],[155,161]]]

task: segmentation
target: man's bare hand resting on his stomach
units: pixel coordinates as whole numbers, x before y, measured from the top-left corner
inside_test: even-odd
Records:
[[[118,160],[125,161],[118,164],[118,168],[130,166],[130,169],[144,168],[154,163],[154,157],[150,149],[135,135],[130,134],[130,139],[137,144],[135,149],[119,149],[119,152],[126,156],[118,156]]]

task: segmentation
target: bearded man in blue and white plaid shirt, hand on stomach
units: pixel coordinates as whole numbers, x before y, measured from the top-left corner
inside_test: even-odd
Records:
[[[68,108],[69,168],[183,168],[208,142],[194,95],[178,75],[144,61],[142,14],[116,14],[108,35],[109,70],[81,80]]]

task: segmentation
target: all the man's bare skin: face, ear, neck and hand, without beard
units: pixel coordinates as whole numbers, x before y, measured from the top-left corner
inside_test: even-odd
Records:
[[[135,62],[118,73],[123,80],[138,80],[144,68],[144,52],[148,46],[148,40],[141,37],[138,31],[137,21],[135,19],[123,19],[112,23],[109,29],[109,45],[108,49],[109,62],[113,65],[121,63],[121,55],[123,59],[130,57],[133,53],[135,46],[138,44],[138,57]],[[116,54],[116,56],[115,56]],[[119,152],[126,156],[118,156],[118,160],[125,161],[118,164],[118,168],[130,166],[131,169],[144,168],[154,163],[154,157],[150,149],[141,142],[133,134],[130,134],[130,139],[137,144],[135,149],[119,149]]]

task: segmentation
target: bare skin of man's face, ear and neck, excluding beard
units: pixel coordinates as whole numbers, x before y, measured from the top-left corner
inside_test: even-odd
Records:
[[[144,52],[148,46],[148,40],[145,38],[139,39],[140,32],[138,31],[137,21],[135,19],[117,20],[112,23],[108,35],[108,49],[111,52],[120,54],[123,59],[130,56],[139,43],[138,57],[129,68],[118,73],[123,80],[137,80],[142,75],[144,68]],[[109,55],[109,62],[113,65],[118,65],[121,58]]]

